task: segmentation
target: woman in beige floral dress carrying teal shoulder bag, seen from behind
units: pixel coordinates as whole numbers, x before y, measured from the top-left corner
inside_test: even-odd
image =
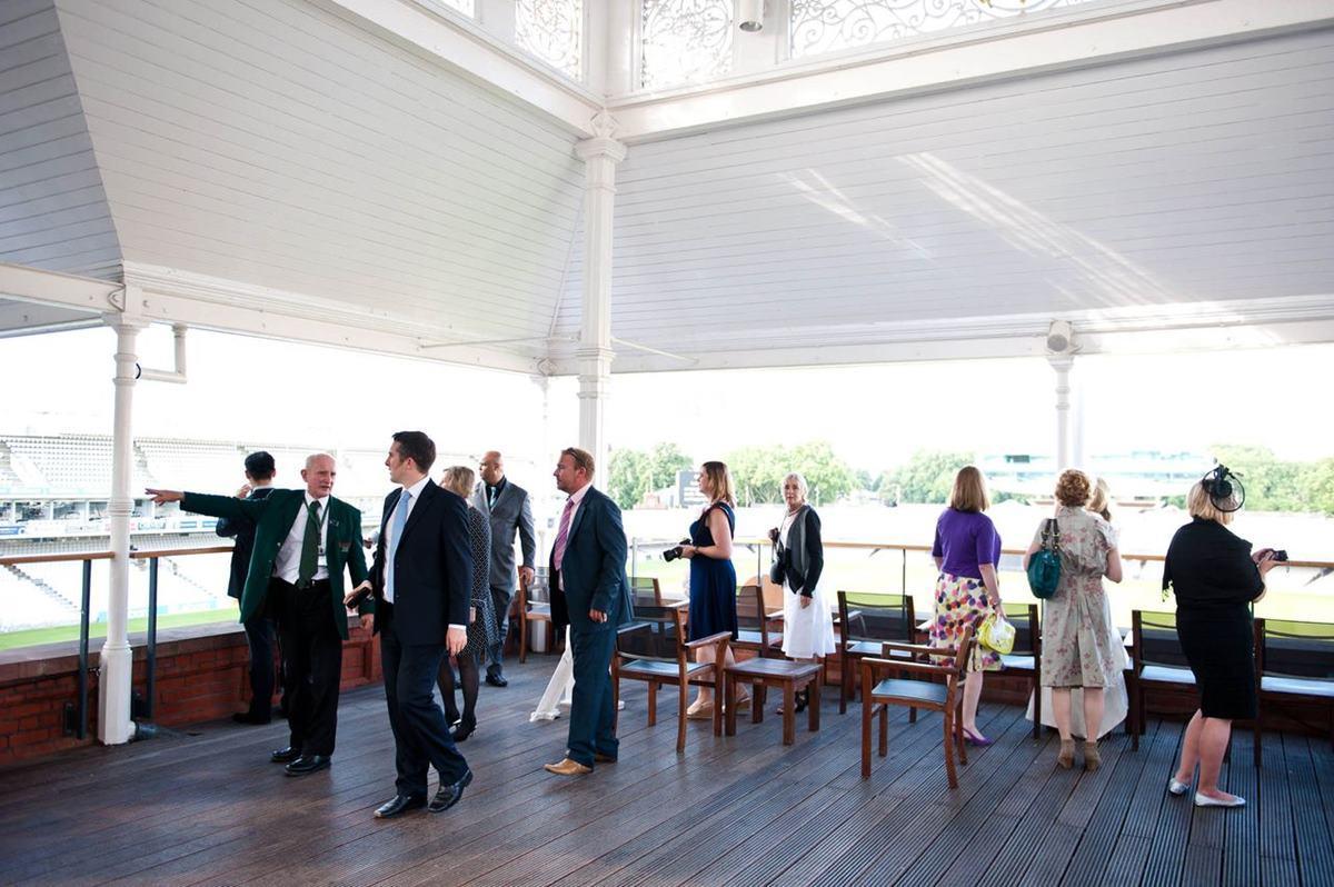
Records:
[[[1057,531],[1061,538],[1061,583],[1043,607],[1042,686],[1051,688],[1051,712],[1061,731],[1057,763],[1074,764],[1074,734],[1085,736],[1085,770],[1098,770],[1098,736],[1126,715],[1126,648],[1111,620],[1111,604],[1102,578],[1121,582],[1117,531],[1085,504],[1093,492],[1082,471],[1065,471],[1057,480]],[[1042,548],[1043,520],[1023,556]],[[1082,691],[1083,724],[1073,724],[1073,691]],[[1119,716],[1109,726],[1107,696]]]

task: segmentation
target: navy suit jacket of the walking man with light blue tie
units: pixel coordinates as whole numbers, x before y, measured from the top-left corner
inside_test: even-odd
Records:
[[[375,598],[384,599],[384,528],[394,519],[403,490],[384,499],[380,518],[380,540],[371,562],[371,584]],[[404,644],[444,644],[450,626],[468,624],[472,606],[472,571],[487,564],[472,563],[468,544],[468,506],[448,490],[428,480],[403,538],[394,551],[394,631]],[[379,631],[376,620],[375,631]]]

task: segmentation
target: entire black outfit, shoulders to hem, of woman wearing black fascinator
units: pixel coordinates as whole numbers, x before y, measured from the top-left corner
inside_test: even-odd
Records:
[[[1265,591],[1251,546],[1214,520],[1195,518],[1167,547],[1163,588],[1177,595],[1177,636],[1206,718],[1255,718],[1250,603]]]

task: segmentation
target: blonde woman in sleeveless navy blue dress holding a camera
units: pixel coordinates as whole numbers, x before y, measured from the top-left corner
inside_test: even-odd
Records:
[[[708,498],[708,506],[690,526],[690,544],[680,547],[680,556],[690,559],[690,639],[730,631],[736,640],[736,568],[732,566],[736,495],[727,466],[720,462],[700,466],[699,491]],[[714,662],[714,648],[700,648],[698,656],[699,662]],[[727,664],[734,662],[728,648]],[[740,699],[736,707],[748,702],[748,696]],[[712,718],[714,691],[700,687],[686,716],[696,720]]]

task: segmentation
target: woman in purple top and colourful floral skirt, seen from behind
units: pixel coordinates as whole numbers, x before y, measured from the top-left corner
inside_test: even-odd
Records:
[[[976,636],[982,620],[1000,611],[1000,586],[996,583],[1000,535],[982,514],[990,504],[982,472],[972,466],[960,468],[950,491],[950,507],[935,522],[931,546],[931,556],[940,571],[935,583],[932,647],[956,647],[964,628],[972,626]],[[982,698],[983,672],[999,670],[1000,654],[980,644],[974,647],[963,682],[963,735],[974,746],[991,744],[978,732],[978,699]]]

